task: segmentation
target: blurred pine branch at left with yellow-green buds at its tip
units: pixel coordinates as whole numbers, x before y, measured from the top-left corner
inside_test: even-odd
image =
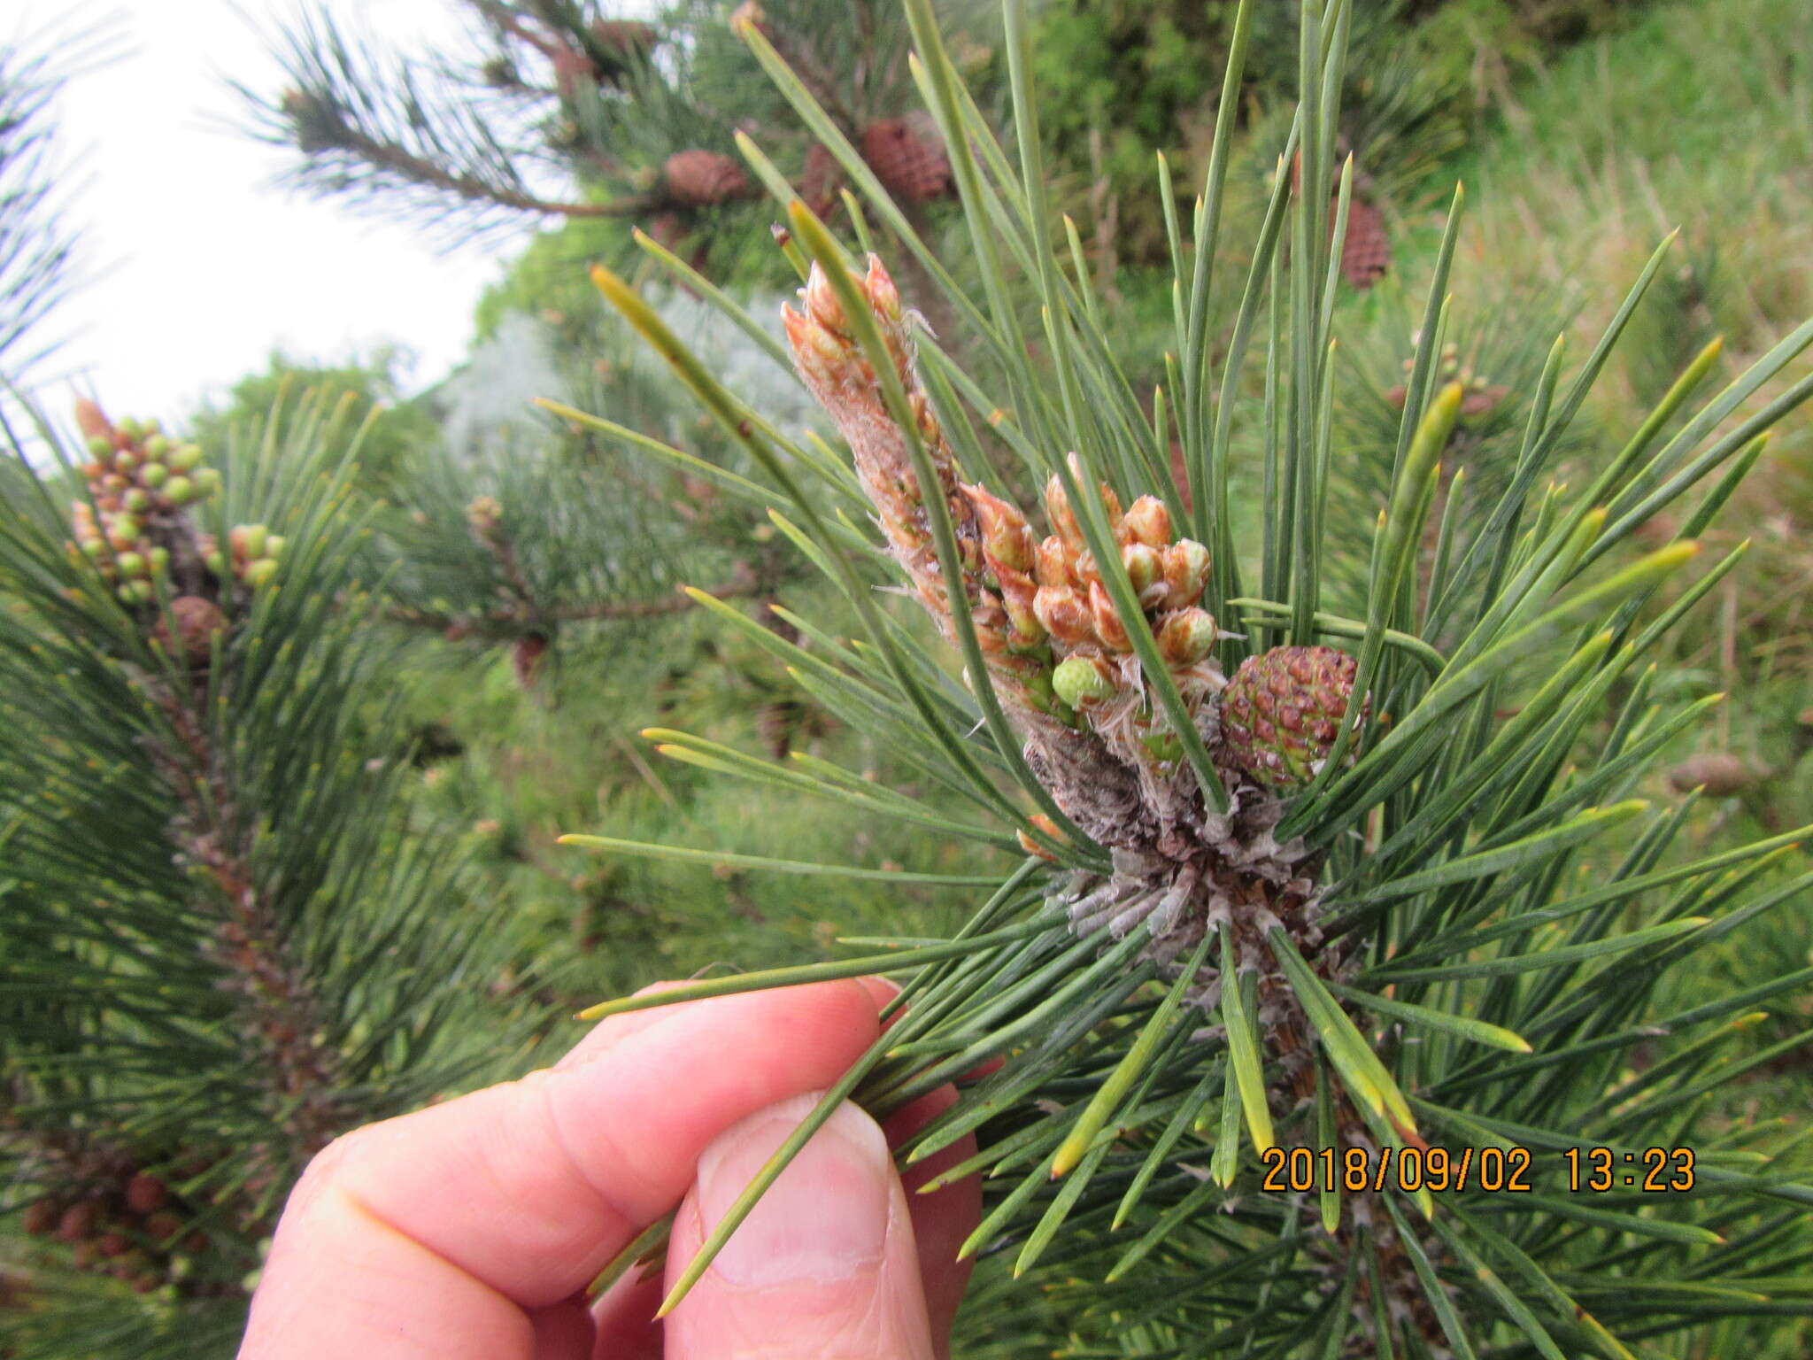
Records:
[[[308,1157],[528,1039],[408,825],[343,413],[9,432],[0,1355],[230,1355]]]

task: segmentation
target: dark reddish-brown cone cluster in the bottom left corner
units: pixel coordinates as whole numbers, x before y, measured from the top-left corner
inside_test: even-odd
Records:
[[[49,1195],[25,1209],[25,1233],[62,1242],[76,1269],[123,1280],[138,1293],[150,1293],[176,1273],[176,1258],[207,1249],[199,1231],[183,1231],[190,1211],[165,1182],[109,1157],[87,1168],[80,1191]],[[205,1168],[201,1168],[205,1170]]]

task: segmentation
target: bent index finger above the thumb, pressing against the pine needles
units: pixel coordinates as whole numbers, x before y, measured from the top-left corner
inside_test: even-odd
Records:
[[[243,1356],[528,1355],[743,1115],[834,1083],[877,1034],[859,983],[687,1005],[567,1070],[341,1139],[272,1246]]]

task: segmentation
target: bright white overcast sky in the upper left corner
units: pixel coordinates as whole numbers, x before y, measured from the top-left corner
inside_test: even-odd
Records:
[[[386,36],[448,33],[448,0],[344,0]],[[22,5],[22,7],[20,7]],[[98,272],[49,323],[69,343],[34,377],[62,412],[92,392],[114,415],[181,417],[263,370],[272,348],[337,361],[395,341],[426,386],[464,354],[509,238],[441,254],[408,225],[272,187],[283,152],[238,131],[225,76],[279,83],[257,25],[290,0],[0,0],[0,33],[116,16],[125,56],[71,82],[63,163]]]

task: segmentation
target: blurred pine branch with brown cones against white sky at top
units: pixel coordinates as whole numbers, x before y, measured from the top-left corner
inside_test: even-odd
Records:
[[[296,183],[402,210],[462,239],[506,221],[622,221],[696,254],[714,236],[740,248],[765,218],[736,140],[776,131],[781,102],[736,29],[789,53],[865,163],[908,203],[950,194],[936,132],[906,116],[906,34],[877,0],[767,0],[725,22],[691,0],[658,22],[613,18],[589,0],[466,0],[475,53],[386,53],[305,11],[277,40],[288,87],[245,91],[256,131],[294,147]],[[894,54],[852,62],[852,53]],[[847,183],[823,147],[778,151],[819,210]],[[772,145],[771,138],[771,145]],[[627,247],[587,234],[584,252]]]

